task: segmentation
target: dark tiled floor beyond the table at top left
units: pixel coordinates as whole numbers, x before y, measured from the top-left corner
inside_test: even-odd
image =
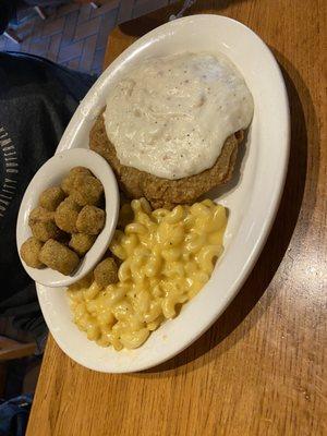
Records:
[[[23,10],[19,25],[14,25],[22,44],[0,36],[0,50],[38,55],[75,70],[99,74],[112,28],[120,22],[165,7],[169,0],[102,0],[101,3],[98,9],[75,3],[46,9],[45,21],[33,9]]]

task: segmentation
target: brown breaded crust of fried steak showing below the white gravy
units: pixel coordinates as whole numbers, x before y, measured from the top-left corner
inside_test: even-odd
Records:
[[[100,113],[89,133],[89,148],[101,155],[114,171],[123,192],[131,198],[146,197],[154,208],[172,208],[178,204],[189,204],[211,187],[226,183],[232,175],[238,154],[238,145],[243,140],[243,131],[227,138],[216,164],[195,175],[179,180],[161,179],[121,165],[114,146],[108,140],[104,117]]]

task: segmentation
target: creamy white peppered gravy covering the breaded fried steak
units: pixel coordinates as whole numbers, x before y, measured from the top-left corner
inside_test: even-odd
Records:
[[[104,117],[122,165],[174,180],[213,167],[227,137],[251,123],[253,98],[225,55],[184,52],[131,69]]]

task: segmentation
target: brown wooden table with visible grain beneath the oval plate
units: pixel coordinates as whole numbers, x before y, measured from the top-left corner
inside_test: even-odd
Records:
[[[206,1],[192,13],[204,5],[252,27],[287,83],[291,156],[270,237],[220,319],[159,367],[98,374],[66,358],[50,337],[28,436],[327,434],[327,2]],[[106,64],[130,40],[116,31]]]

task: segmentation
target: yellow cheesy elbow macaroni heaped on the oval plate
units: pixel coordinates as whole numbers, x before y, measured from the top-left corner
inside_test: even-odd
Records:
[[[209,280],[226,225],[226,209],[210,199],[172,211],[152,210],[145,198],[124,204],[110,244],[122,262],[119,281],[69,288],[77,327],[102,347],[140,347]]]

